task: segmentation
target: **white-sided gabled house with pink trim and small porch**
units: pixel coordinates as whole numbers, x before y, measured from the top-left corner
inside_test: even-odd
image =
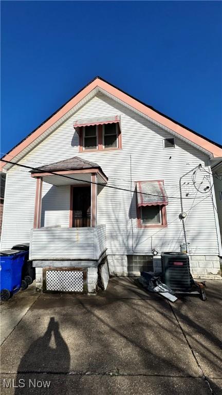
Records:
[[[2,158],[1,248],[30,242],[45,290],[93,292],[105,257],[112,275],[158,271],[160,253],[183,244],[194,277],[221,278],[211,172],[221,157],[217,143],[96,77]]]

